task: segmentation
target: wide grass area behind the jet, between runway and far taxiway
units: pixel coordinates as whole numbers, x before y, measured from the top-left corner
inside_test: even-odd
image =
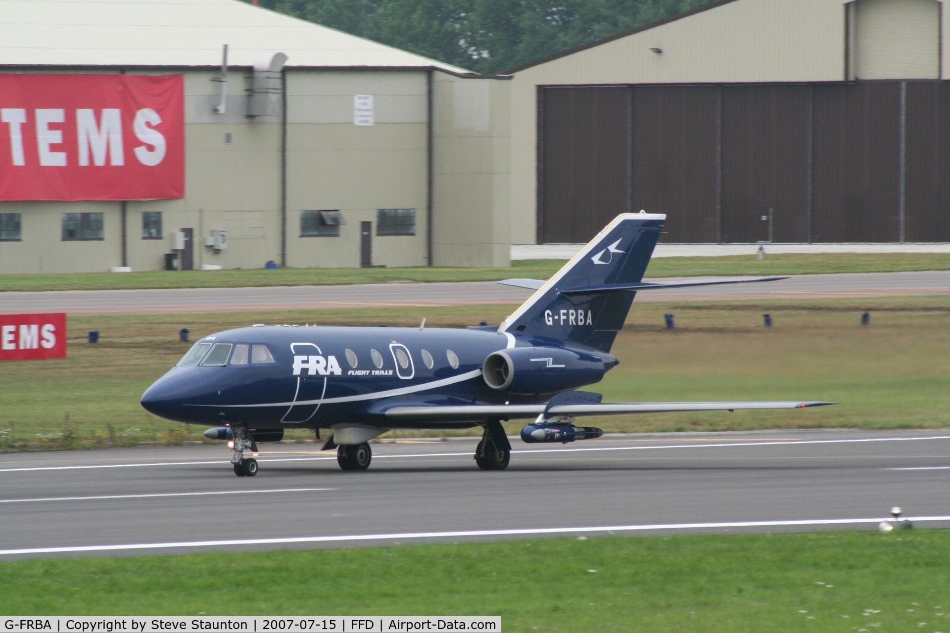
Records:
[[[871,325],[860,313],[871,311]],[[0,449],[180,443],[200,429],[139,405],[145,388],[192,340],[253,323],[467,326],[499,323],[511,306],[71,317],[69,356],[0,363]],[[673,312],[677,327],[663,328]],[[762,326],[768,312],[774,326]],[[99,344],[85,332],[100,331]],[[608,432],[795,427],[950,426],[950,297],[634,304],[613,353],[620,365],[587,387],[605,401],[833,400],[803,411],[600,418]],[[521,424],[511,422],[510,433]],[[456,432],[446,435],[456,435]],[[393,432],[394,436],[431,432]],[[294,438],[310,437],[303,432]]]

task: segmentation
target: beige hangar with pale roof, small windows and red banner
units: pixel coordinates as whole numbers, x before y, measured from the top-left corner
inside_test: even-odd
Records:
[[[180,76],[183,88],[183,193],[163,199],[88,199],[42,182],[11,195],[70,169],[70,186],[127,188],[140,155],[124,111],[106,133],[118,107],[60,95],[77,118],[91,113],[77,133],[69,106],[44,104],[57,97],[24,89],[24,105],[2,91],[0,271],[159,270],[166,254],[184,269],[507,265],[510,82],[237,0],[0,9],[0,79]],[[134,151],[155,155],[146,139],[158,120],[135,121]]]

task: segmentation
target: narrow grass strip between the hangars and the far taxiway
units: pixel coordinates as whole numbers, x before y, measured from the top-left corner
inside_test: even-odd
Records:
[[[0,274],[0,292],[11,290],[101,290],[148,288],[239,288],[252,286],[337,286],[390,282],[498,281],[508,277],[547,279],[564,264],[558,259],[522,260],[507,269],[417,267],[400,269],[151,270]],[[755,274],[817,274],[950,270],[943,253],[789,253],[725,257],[660,257],[649,277]]]

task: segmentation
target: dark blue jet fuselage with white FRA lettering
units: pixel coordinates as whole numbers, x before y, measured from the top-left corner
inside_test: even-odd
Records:
[[[225,350],[224,345],[230,347]],[[256,345],[266,347],[268,354],[258,349],[255,358]],[[180,422],[255,429],[328,428],[339,423],[469,427],[478,420],[386,420],[385,403],[546,401],[551,394],[512,394],[491,388],[483,379],[485,358],[516,346],[558,347],[572,356],[602,361],[608,369],[617,363],[610,354],[582,345],[478,328],[253,326],[202,338],[192,350],[196,355],[203,351],[198,364],[182,364],[188,361],[186,355],[145,392],[142,405]],[[538,359],[535,364],[537,371],[544,371],[551,363]]]

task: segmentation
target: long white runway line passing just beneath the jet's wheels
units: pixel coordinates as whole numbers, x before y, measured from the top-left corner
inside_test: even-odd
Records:
[[[795,446],[799,444],[851,444],[865,442],[890,442],[890,441],[927,441],[933,439],[950,439],[950,436],[932,436],[928,438],[860,438],[860,439],[801,439],[788,441],[757,441],[757,442],[732,442],[718,444],[667,444],[663,446],[599,446],[591,448],[545,448],[545,449],[526,449],[512,451],[518,455],[547,455],[549,453],[582,453],[590,451],[656,451],[661,449],[680,449],[680,448],[733,448],[742,446]],[[471,452],[466,453],[418,453],[412,455],[374,455],[373,459],[402,459],[406,457],[451,457],[451,456],[471,456]],[[281,462],[281,461],[323,461],[336,459],[336,456],[327,457],[272,457],[257,459],[259,462]],[[211,464],[230,464],[230,460],[222,461],[161,461],[142,464],[92,464],[86,466],[28,466],[22,468],[0,468],[0,473],[15,473],[22,471],[68,471],[68,470],[86,470],[93,468],[136,468],[142,466],[204,466]]]

